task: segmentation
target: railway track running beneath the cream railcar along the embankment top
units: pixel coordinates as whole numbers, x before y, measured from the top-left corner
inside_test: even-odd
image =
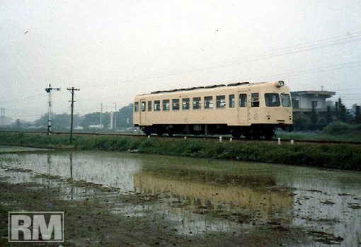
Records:
[[[0,131],[0,132],[11,132],[11,133],[28,133],[28,134],[47,134],[47,132],[35,132],[35,131]],[[52,132],[52,134],[69,134],[69,132]],[[98,135],[98,136],[118,136],[118,137],[139,137],[139,138],[146,138],[144,134],[117,134],[117,133],[86,133],[86,132],[73,132],[73,135]],[[188,136],[188,135],[175,135],[173,137],[169,137],[168,135],[164,136],[157,136],[151,135],[151,138],[175,138],[175,139],[219,139],[219,136]],[[229,137],[222,137],[224,142],[229,142]],[[234,139],[237,142],[278,142],[277,138],[273,139]],[[283,143],[291,142],[292,139],[282,139]],[[353,144],[353,145],[361,145],[361,142],[357,141],[326,141],[326,140],[308,140],[308,139],[293,139],[294,143],[314,143],[314,144]]]

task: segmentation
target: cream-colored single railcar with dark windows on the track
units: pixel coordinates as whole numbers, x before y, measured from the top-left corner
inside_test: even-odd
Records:
[[[292,130],[290,88],[283,81],[181,88],[138,95],[134,125],[149,135],[232,134],[267,139]]]

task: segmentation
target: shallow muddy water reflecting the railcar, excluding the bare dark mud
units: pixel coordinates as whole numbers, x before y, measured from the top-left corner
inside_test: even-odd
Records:
[[[151,215],[183,236],[267,226],[302,231],[297,246],[361,246],[361,173],[103,151],[2,154],[0,165],[7,183],[60,187],[59,200],[93,195],[59,180],[144,195],[154,202],[115,203],[111,212]]]

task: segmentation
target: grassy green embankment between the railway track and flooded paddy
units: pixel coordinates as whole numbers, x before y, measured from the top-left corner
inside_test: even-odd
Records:
[[[145,154],[190,156],[282,163],[297,166],[361,171],[361,147],[352,144],[310,144],[277,142],[229,142],[224,139],[173,139],[147,137],[69,136],[27,133],[0,133],[1,145],[76,150],[128,151]]]

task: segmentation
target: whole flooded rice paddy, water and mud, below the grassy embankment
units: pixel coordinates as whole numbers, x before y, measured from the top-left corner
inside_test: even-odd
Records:
[[[26,211],[28,201],[35,200],[33,211],[50,211],[46,207],[52,205],[69,211],[65,243],[74,246],[361,246],[361,173],[42,151],[1,154],[0,181],[10,185],[6,192],[24,185],[25,199],[2,197],[3,209]],[[38,201],[42,193],[45,204]],[[79,212],[70,212],[74,207]],[[93,211],[98,222],[81,218]],[[100,237],[96,229],[102,220]],[[106,229],[107,221],[118,225]],[[79,222],[88,224],[88,231],[77,232]],[[74,234],[67,236],[67,227]]]

